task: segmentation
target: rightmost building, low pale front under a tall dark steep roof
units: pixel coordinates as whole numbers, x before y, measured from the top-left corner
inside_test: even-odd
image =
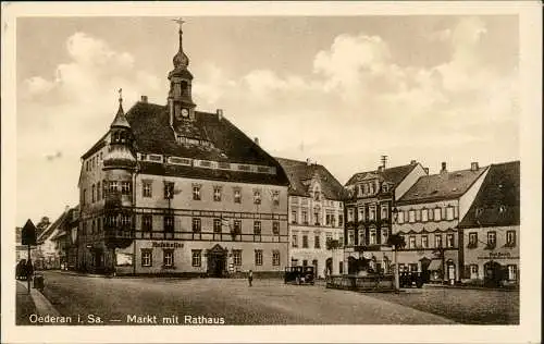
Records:
[[[492,164],[459,223],[465,283],[519,284],[520,163]]]

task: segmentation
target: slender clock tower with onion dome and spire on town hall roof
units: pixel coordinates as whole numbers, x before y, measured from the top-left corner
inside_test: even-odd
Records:
[[[195,121],[195,108],[191,97],[193,74],[187,70],[189,59],[183,51],[183,30],[184,21],[175,20],[180,24],[180,50],[174,56],[174,69],[169,73],[169,112],[170,124],[175,128],[186,122]]]

